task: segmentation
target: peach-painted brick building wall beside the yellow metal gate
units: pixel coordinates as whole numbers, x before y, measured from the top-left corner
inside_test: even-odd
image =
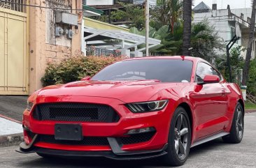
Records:
[[[59,63],[63,59],[81,54],[81,28],[83,12],[82,0],[34,0],[31,5],[51,8],[65,8],[65,12],[78,15],[78,29],[73,29],[72,40],[66,36],[55,37],[55,11],[47,8],[29,8],[30,44],[29,44],[29,94],[41,89],[41,77],[48,63]]]

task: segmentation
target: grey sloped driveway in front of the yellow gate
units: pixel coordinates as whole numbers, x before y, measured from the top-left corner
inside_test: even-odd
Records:
[[[22,113],[27,105],[27,96],[0,96],[0,114],[22,121]]]

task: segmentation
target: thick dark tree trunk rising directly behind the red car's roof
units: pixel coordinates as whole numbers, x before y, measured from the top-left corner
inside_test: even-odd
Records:
[[[256,0],[255,0],[256,1]],[[190,56],[192,0],[183,0],[183,55]]]

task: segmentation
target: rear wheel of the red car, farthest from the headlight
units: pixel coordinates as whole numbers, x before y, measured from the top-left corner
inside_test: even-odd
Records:
[[[224,142],[239,144],[243,139],[244,112],[240,102],[237,103],[230,134],[222,137]]]

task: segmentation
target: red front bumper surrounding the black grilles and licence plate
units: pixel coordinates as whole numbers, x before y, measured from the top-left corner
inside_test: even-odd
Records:
[[[68,100],[68,101],[67,101]],[[20,145],[20,149],[17,150],[22,153],[45,153],[51,155],[81,155],[92,156],[101,155],[106,158],[145,158],[155,157],[159,155],[165,155],[164,151],[169,135],[169,125],[171,109],[170,105],[167,105],[165,109],[159,112],[150,112],[143,114],[133,114],[125,107],[124,102],[120,100],[114,100],[111,98],[89,98],[89,97],[72,97],[72,98],[48,98],[36,100],[37,103],[45,102],[90,102],[99,103],[104,102],[106,105],[110,105],[120,115],[120,120],[117,123],[90,123],[80,122],[83,128],[84,137],[106,137],[108,141],[107,146],[81,146],[81,145],[69,145],[69,144],[52,144],[48,142],[40,142],[41,135],[55,135],[55,123],[77,123],[77,122],[59,122],[59,121],[38,121],[31,115],[32,112],[25,110],[23,115],[24,128],[38,135],[38,138],[25,139],[26,143]],[[167,110],[168,109],[168,110]],[[33,111],[33,109],[32,109]],[[120,137],[126,136],[127,132],[132,129],[139,128],[155,128],[155,135],[147,142],[134,143],[134,144],[122,144],[120,143]],[[25,132],[25,130],[24,130]],[[26,137],[24,135],[24,137]],[[68,154],[71,153],[71,154]],[[87,154],[86,154],[87,153]],[[98,154],[97,154],[98,153]],[[105,154],[104,154],[105,153]]]

